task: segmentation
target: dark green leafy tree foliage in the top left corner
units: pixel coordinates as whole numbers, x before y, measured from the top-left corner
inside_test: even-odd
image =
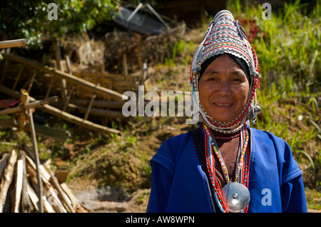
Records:
[[[116,10],[118,0],[58,0],[57,19],[49,19],[51,1],[14,1],[1,2],[0,38],[22,39],[29,46],[41,46],[41,39],[59,38],[63,35],[72,38],[93,28],[99,22],[110,19]]]

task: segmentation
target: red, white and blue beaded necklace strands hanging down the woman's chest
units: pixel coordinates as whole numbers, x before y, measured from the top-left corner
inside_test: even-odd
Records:
[[[228,176],[228,168],[226,167],[224,160],[222,158],[222,155],[220,154],[220,151],[218,149],[218,145],[215,141],[215,138],[213,134],[211,134],[208,126],[206,126],[205,123],[202,125],[202,129],[204,132],[205,137],[205,162],[206,162],[206,168],[208,171],[208,175],[210,176],[210,183],[213,187],[214,197],[215,201],[218,203],[218,206],[220,208],[220,211],[223,213],[228,213],[228,210],[225,206],[225,203],[222,198],[222,191],[220,189],[220,186],[218,184],[218,181],[215,177],[215,165],[214,165],[214,154],[218,157],[218,160],[220,161],[220,166],[222,168],[222,171],[225,176],[225,180],[229,183],[230,177]],[[240,132],[240,148],[238,151],[238,158],[236,161],[236,169],[235,169],[235,181],[242,183],[245,187],[248,188],[248,162],[249,162],[249,151],[248,151],[248,140],[249,136],[246,132],[246,126],[243,125],[242,130]],[[248,206],[242,211],[247,212]]]

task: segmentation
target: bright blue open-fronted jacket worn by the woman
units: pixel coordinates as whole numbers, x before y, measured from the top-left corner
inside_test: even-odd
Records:
[[[307,212],[302,171],[281,138],[250,130],[248,212]],[[193,133],[168,138],[151,159],[147,212],[215,212]]]

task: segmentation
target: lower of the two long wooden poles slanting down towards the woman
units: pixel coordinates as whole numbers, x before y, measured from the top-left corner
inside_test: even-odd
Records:
[[[14,98],[20,97],[18,91],[12,91],[11,89],[6,88],[6,86],[0,85],[0,91],[4,94],[8,94],[9,96],[13,96]],[[19,98],[16,98],[19,99]],[[29,96],[30,101],[36,101],[33,97]],[[84,121],[82,118],[78,118],[77,116],[73,116],[66,112],[61,111],[60,109],[56,109],[53,106],[49,106],[49,104],[45,104],[44,106],[39,107],[40,109],[44,110],[45,112],[57,116],[58,118],[62,118],[63,120],[69,121],[71,123],[75,123],[78,126],[82,126],[84,128],[91,129],[93,131],[98,131],[101,133],[116,133],[121,134],[121,131],[108,128],[105,126],[98,125],[97,123],[93,123],[91,121]]]

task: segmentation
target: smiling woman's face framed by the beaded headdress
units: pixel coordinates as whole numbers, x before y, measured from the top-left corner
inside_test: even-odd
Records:
[[[226,54],[205,69],[199,81],[200,103],[214,121],[233,121],[243,111],[249,83],[243,70]]]

